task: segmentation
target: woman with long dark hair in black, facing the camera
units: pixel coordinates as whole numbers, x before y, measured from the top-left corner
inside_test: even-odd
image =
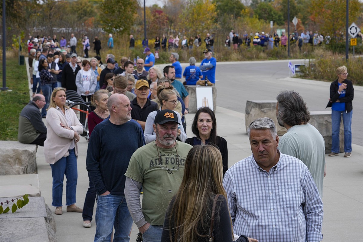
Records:
[[[218,147],[222,154],[223,176],[228,170],[227,141],[217,135],[217,120],[214,112],[209,107],[197,110],[192,123],[192,132],[196,137],[188,138],[185,143],[190,145],[210,144]]]

